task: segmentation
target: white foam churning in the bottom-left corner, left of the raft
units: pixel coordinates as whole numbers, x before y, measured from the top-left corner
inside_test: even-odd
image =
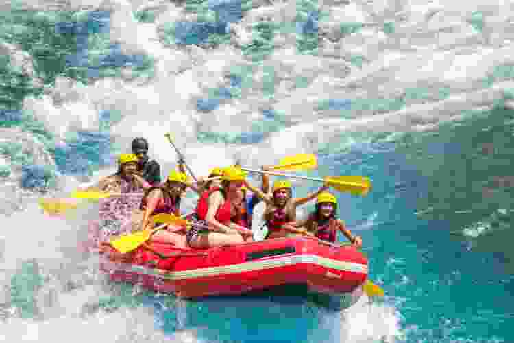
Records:
[[[0,341],[48,342],[59,337],[84,343],[198,342],[191,330],[164,335],[155,315],[145,307],[108,312],[98,308],[99,298],[114,294],[98,270],[97,257],[79,248],[86,239],[85,223],[97,211],[93,206],[61,219],[44,215],[38,204],[31,203],[25,211],[1,218],[0,315],[4,320],[0,320]],[[34,277],[40,278],[40,285],[32,285],[33,275],[20,276],[23,264],[29,262],[35,265]],[[17,291],[11,288],[13,276],[21,278],[15,281]],[[33,294],[32,287],[36,287]],[[12,292],[17,292],[16,298]],[[24,299],[33,302],[34,318],[20,317],[16,300]]]

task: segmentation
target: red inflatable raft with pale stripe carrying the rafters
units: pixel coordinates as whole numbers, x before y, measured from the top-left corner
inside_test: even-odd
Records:
[[[207,250],[178,250],[152,243],[123,259],[107,256],[101,269],[112,281],[184,298],[237,295],[284,285],[306,285],[311,292],[359,298],[368,273],[367,258],[356,248],[314,237]]]

